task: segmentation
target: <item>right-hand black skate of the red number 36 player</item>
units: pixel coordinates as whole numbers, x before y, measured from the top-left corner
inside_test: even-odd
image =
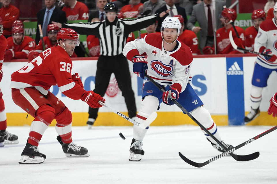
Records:
[[[67,157],[88,157],[87,148],[77,146],[75,143],[71,142],[69,144],[63,143],[61,137],[58,135],[57,140],[63,148],[63,152]]]

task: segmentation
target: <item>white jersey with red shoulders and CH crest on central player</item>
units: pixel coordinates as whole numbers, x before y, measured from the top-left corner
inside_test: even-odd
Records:
[[[136,39],[128,42],[123,55],[128,60],[144,52],[147,54],[147,74],[160,85],[171,85],[178,89],[179,93],[185,90],[189,80],[192,53],[184,43],[177,41],[177,48],[166,51],[163,47],[163,39],[156,33],[148,34],[144,39]]]

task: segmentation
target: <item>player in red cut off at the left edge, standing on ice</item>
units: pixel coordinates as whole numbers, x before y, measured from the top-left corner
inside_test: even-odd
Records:
[[[2,72],[2,65],[4,61],[4,53],[7,47],[7,40],[4,37],[3,34],[3,22],[0,17],[0,82],[3,77],[3,72]],[[16,135],[13,135],[6,131],[7,128],[7,117],[6,117],[6,112],[5,112],[5,104],[4,100],[2,98],[3,94],[0,90],[0,147],[3,147],[4,144],[16,144],[18,143],[18,137]]]

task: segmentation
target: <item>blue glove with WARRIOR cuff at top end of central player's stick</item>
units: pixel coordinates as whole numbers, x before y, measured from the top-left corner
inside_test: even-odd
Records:
[[[145,70],[147,70],[147,59],[144,56],[135,56],[133,57],[133,72],[139,77],[144,79]]]

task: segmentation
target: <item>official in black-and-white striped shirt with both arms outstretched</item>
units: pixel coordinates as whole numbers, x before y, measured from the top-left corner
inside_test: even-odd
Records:
[[[100,57],[97,62],[95,75],[95,93],[104,96],[111,74],[115,74],[119,89],[125,98],[130,118],[136,116],[136,104],[131,85],[131,77],[128,62],[122,54],[126,44],[126,38],[130,32],[143,29],[156,22],[168,12],[141,16],[135,19],[120,20],[117,18],[118,8],[114,3],[107,3],[104,7],[106,19],[102,22],[62,24],[65,28],[72,28],[79,34],[95,35],[100,42]],[[56,23],[61,27],[60,23]],[[97,118],[98,108],[89,108],[89,128]]]

